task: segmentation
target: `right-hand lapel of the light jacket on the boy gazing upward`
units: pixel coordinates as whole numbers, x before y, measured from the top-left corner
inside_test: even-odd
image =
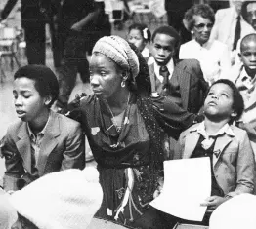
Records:
[[[231,130],[231,128],[230,128],[230,130]],[[223,151],[230,144],[230,142],[232,141],[234,136],[235,136],[235,134],[233,132],[230,132],[230,134],[223,134],[223,135],[217,137],[215,145],[214,145],[213,157],[212,157],[213,168],[219,161],[221,155],[223,154]]]

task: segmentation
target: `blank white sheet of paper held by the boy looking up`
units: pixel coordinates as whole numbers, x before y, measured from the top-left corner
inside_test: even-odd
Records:
[[[211,194],[210,159],[194,158],[164,162],[164,185],[150,205],[176,217],[201,221]]]

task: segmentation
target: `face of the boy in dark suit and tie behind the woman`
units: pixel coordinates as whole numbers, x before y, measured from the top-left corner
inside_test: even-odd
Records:
[[[152,42],[152,56],[159,65],[166,65],[175,53],[175,38],[156,34]]]

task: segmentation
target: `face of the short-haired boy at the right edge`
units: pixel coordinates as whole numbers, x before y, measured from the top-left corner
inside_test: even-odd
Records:
[[[256,73],[256,36],[255,41],[248,41],[246,44],[241,44],[240,59],[249,71]]]

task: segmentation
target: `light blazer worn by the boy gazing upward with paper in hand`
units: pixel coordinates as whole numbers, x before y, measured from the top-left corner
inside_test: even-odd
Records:
[[[199,124],[193,125],[180,135],[173,159],[191,158],[199,140]],[[253,193],[254,154],[245,131],[230,126],[229,134],[216,139],[213,154],[213,171],[225,195]]]

